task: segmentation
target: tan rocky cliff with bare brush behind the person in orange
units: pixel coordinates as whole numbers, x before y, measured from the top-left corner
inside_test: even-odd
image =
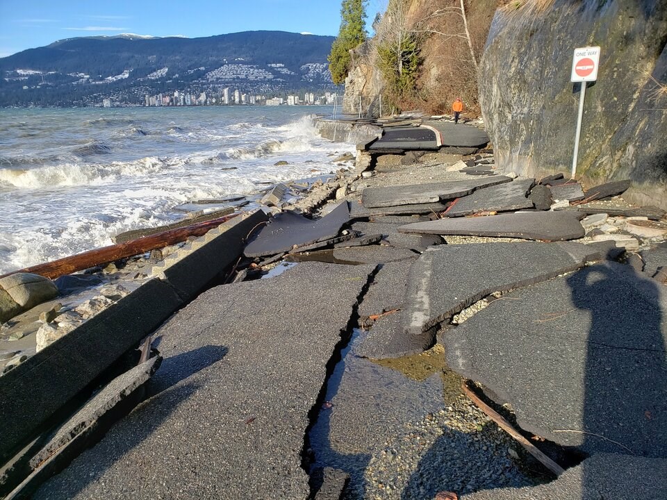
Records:
[[[344,112],[378,115],[382,94],[384,114],[420,109],[451,113],[456,97],[466,103],[470,116],[479,116],[477,69],[494,12],[502,1],[391,0],[369,42],[352,51],[353,66],[345,81]],[[463,25],[463,15],[468,33]],[[379,67],[378,49],[414,36],[419,69],[415,84],[396,94],[386,85]],[[470,42],[470,43],[469,43]],[[472,48],[472,50],[471,50]],[[474,54],[474,57],[473,57]]]

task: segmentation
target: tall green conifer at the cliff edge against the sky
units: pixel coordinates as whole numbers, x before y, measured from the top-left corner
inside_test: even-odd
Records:
[[[352,65],[349,51],[359,47],[366,41],[366,10],[367,0],[343,0],[340,6],[340,30],[338,37],[331,44],[329,71],[336,85],[345,81],[347,72]]]

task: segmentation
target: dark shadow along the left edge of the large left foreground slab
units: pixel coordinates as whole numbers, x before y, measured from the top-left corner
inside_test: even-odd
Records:
[[[44,483],[33,499],[73,498],[84,492],[92,483],[104,481],[109,469],[125,458],[132,449],[154,434],[161,425],[192,397],[201,381],[189,381],[190,376],[222,360],[227,347],[207,345],[192,351],[166,358],[158,372],[149,381],[149,397],[127,417],[117,422],[108,433],[91,449],[76,458],[63,472]],[[129,465],[128,465],[129,467]],[[133,464],[138,467],[140,464]],[[111,473],[108,481],[117,481],[118,474]],[[130,478],[125,478],[129,481]],[[131,484],[116,483],[117,494],[123,492],[131,496]]]

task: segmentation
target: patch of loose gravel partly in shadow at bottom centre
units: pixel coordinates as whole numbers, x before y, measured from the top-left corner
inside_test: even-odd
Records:
[[[386,442],[365,471],[365,499],[432,499],[536,484],[518,467],[517,446],[467,397],[428,413]]]

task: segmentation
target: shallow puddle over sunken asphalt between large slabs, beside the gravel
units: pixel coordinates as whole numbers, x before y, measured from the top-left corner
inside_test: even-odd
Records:
[[[418,381],[393,367],[355,356],[354,347],[364,335],[355,329],[341,352],[327,382],[326,401],[308,435],[313,468],[345,470],[356,490],[363,488],[370,458],[391,436],[445,407],[439,369],[430,363],[436,353],[426,358],[431,368],[420,369]]]

